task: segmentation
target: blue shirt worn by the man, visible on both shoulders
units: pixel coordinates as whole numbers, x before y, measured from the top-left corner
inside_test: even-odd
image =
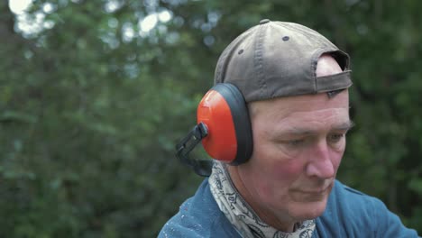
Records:
[[[188,198],[159,237],[241,237],[220,211],[206,178]],[[335,181],[326,211],[316,218],[312,237],[417,237],[380,199]]]

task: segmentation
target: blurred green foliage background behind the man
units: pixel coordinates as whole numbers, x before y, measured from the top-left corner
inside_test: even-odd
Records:
[[[0,237],[156,236],[202,179],[174,144],[196,123],[221,51],[263,18],[307,25],[351,55],[356,126],[338,177],[422,233],[420,9],[1,1]]]

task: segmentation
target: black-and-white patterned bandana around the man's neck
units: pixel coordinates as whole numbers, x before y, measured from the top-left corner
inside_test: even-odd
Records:
[[[293,233],[278,231],[269,224],[265,224],[252,210],[243,197],[234,188],[225,165],[215,162],[213,172],[208,179],[211,193],[216,199],[220,210],[243,237],[260,238],[307,238],[312,237],[315,230],[315,220],[307,220],[296,224]]]

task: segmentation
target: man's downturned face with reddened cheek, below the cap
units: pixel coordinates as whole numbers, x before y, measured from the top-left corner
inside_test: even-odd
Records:
[[[251,104],[252,158],[229,166],[236,188],[262,219],[301,221],[326,209],[351,127],[344,90]]]

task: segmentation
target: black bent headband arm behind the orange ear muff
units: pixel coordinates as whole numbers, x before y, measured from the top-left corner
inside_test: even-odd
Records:
[[[206,160],[190,160],[188,155],[206,135],[208,135],[206,124],[199,123],[176,145],[176,157],[194,169],[197,175],[203,177],[211,174],[212,162]]]

